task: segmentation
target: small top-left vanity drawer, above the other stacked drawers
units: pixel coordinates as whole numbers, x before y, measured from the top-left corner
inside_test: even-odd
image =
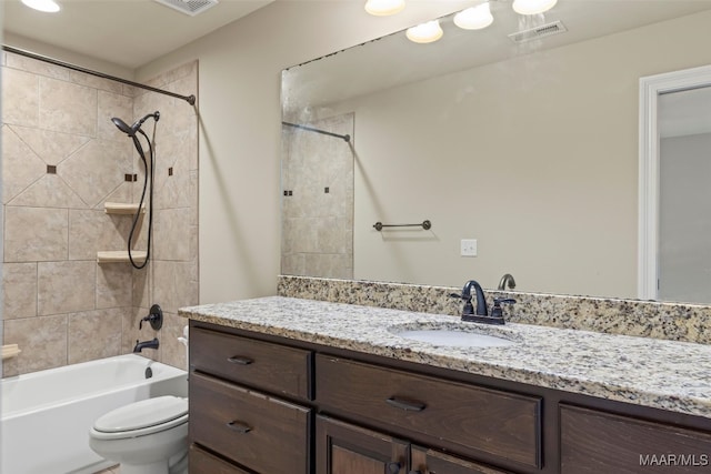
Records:
[[[190,364],[268,392],[311,399],[310,351],[192,327]]]

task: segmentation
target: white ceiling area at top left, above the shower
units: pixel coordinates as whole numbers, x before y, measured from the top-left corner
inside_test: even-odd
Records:
[[[220,0],[194,17],[153,0],[58,0],[58,13],[0,3],[6,32],[134,70],[271,1]]]

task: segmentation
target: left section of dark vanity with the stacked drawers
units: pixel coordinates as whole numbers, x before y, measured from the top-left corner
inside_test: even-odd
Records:
[[[311,351],[190,329],[190,472],[310,474]],[[209,456],[208,456],[209,454]],[[228,467],[226,467],[228,466]]]

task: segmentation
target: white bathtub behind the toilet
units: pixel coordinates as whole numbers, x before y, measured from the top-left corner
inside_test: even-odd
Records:
[[[109,467],[113,463],[89,447],[93,422],[161,395],[188,396],[188,373],[136,354],[2,379],[0,473],[90,474]]]

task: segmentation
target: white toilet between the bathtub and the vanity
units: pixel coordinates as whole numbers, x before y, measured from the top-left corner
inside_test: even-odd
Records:
[[[89,445],[121,465],[121,474],[188,473],[188,399],[167,395],[134,402],[102,415]]]

